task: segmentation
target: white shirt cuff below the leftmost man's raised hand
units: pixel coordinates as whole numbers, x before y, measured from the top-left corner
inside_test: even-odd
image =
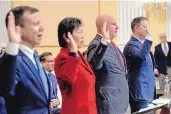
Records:
[[[19,52],[19,44],[16,43],[8,43],[7,44],[7,49],[6,49],[6,53],[9,55],[18,55]]]

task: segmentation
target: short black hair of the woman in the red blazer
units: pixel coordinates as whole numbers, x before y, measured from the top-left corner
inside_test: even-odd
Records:
[[[63,35],[68,32],[72,34],[73,30],[82,25],[82,20],[74,17],[64,18],[58,25],[58,42],[59,46],[66,48],[67,42],[63,38]]]

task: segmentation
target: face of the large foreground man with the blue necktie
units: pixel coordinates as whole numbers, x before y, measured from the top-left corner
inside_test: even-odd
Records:
[[[24,12],[23,27],[21,27],[21,37],[28,45],[35,47],[39,45],[43,36],[43,27],[40,23],[39,12]]]

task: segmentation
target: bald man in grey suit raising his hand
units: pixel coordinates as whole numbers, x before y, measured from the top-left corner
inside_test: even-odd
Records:
[[[116,20],[110,15],[96,19],[97,34],[91,41],[87,58],[96,75],[98,114],[128,114],[128,83],[125,58],[113,38],[118,32]]]

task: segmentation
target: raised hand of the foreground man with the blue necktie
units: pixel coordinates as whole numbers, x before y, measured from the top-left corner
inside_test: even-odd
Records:
[[[15,18],[12,12],[10,12],[8,16],[7,31],[8,31],[9,42],[18,43],[18,44],[21,42],[20,27],[15,25]]]

